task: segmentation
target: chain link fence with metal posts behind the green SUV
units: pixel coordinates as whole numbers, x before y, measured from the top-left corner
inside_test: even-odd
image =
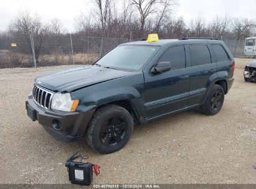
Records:
[[[91,64],[128,38],[88,34],[0,37],[0,68]],[[224,40],[234,57],[244,57],[245,40]]]

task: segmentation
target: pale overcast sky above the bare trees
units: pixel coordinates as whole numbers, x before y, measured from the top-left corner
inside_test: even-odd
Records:
[[[9,22],[21,10],[29,10],[42,17],[42,21],[59,19],[67,32],[75,31],[75,17],[81,12],[88,12],[93,0],[0,0],[0,31],[7,29]],[[118,1],[118,0],[113,0]],[[176,0],[175,15],[183,16],[188,23],[191,19],[203,17],[211,21],[216,16],[225,14],[234,17],[256,20],[255,0]]]

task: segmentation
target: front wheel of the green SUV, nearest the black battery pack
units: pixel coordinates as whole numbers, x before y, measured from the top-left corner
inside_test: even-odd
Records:
[[[97,109],[90,121],[85,138],[100,154],[120,150],[133,133],[133,118],[123,107],[110,104]]]

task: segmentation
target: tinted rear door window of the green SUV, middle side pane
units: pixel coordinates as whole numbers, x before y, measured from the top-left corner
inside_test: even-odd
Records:
[[[207,45],[189,45],[192,67],[212,63]]]

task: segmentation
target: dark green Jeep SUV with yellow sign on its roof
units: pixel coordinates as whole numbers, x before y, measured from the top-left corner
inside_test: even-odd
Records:
[[[196,106],[217,114],[234,68],[221,40],[130,42],[93,65],[38,76],[27,114],[60,141],[85,137],[92,149],[108,154],[128,142],[135,123]]]

